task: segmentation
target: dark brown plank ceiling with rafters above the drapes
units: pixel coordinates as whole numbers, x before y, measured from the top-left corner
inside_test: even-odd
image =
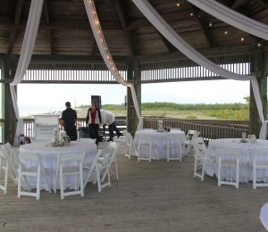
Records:
[[[267,0],[218,2],[268,24]],[[113,56],[168,54],[176,50],[131,0],[95,0],[95,3]],[[150,3],[181,37],[197,49],[256,45],[261,41],[200,11],[185,0],[150,0]],[[0,54],[20,54],[29,4],[30,0],[0,1]],[[224,31],[228,32],[227,35]],[[99,54],[82,0],[45,0],[34,54]]]

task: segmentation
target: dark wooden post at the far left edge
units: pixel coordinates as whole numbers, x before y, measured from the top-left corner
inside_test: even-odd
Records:
[[[14,77],[16,71],[16,63],[11,59],[3,59],[2,79],[4,79],[3,85],[3,114],[4,114],[4,138],[3,142],[9,142],[13,145],[14,136],[17,127],[17,120],[13,109],[13,100],[10,91],[10,79]]]

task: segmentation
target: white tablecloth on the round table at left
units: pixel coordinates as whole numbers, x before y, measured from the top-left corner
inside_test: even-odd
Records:
[[[61,146],[61,147],[52,147],[47,146],[47,142],[37,142],[28,145],[21,145],[20,152],[21,153],[38,153],[40,155],[42,164],[46,171],[46,176],[48,178],[48,184],[51,188],[54,186],[55,181],[55,172],[57,167],[57,159],[59,154],[64,153],[75,153],[75,152],[84,152],[85,153],[85,163],[93,162],[96,156],[96,144],[90,144],[88,142],[80,141],[80,142],[71,142],[70,146]],[[20,158],[20,157],[19,157]],[[36,167],[37,163],[27,160],[26,161],[27,168]],[[73,162],[68,162],[66,165],[71,166]],[[84,170],[84,178],[87,176],[87,171]],[[68,186],[75,187],[77,184],[77,177],[64,177]],[[45,189],[44,179],[42,179],[42,189]],[[31,187],[36,187],[36,178],[29,178],[29,185]],[[59,187],[59,179],[57,180],[57,188]]]

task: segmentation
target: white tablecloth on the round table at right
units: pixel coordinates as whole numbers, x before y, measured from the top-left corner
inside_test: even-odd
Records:
[[[239,138],[222,138],[214,139],[209,142],[207,154],[211,158],[211,161],[214,161],[213,164],[207,162],[205,166],[206,174],[213,176],[217,175],[218,166],[216,163],[217,155],[215,153],[216,148],[236,148],[241,151],[240,157],[240,170],[239,170],[239,182],[248,182],[252,180],[252,163],[253,163],[253,149],[266,148],[268,149],[267,140],[257,140],[255,144],[240,143]],[[230,155],[227,157],[230,160],[235,161],[236,157]],[[268,161],[268,156],[264,157],[266,162]],[[256,162],[262,162],[256,160]],[[222,178],[226,180],[235,180],[236,170],[234,168],[222,167]],[[257,170],[256,172],[257,181],[268,181],[268,170]]]

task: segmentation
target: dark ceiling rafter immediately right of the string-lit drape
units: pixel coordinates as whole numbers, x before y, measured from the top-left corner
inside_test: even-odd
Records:
[[[117,12],[117,15],[119,17],[119,21],[121,23],[121,27],[123,29],[125,37],[127,38],[128,44],[130,46],[130,53],[133,56],[135,56],[137,54],[135,46],[134,46],[135,43],[134,43],[134,39],[133,39],[130,31],[127,29],[127,15],[123,10],[124,7],[122,5],[122,2],[121,2],[121,0],[113,0],[113,2],[114,2],[114,6],[115,6],[115,10]]]

